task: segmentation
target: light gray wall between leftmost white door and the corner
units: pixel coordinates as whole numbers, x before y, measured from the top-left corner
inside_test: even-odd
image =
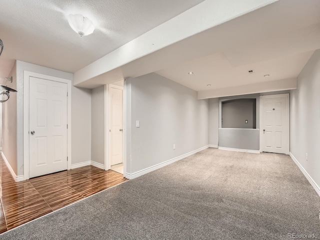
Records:
[[[91,89],[71,87],[72,164],[91,160]]]

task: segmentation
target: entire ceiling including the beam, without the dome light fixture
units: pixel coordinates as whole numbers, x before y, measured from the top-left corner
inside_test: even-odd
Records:
[[[1,8],[0,64],[19,59],[74,72],[73,83],[88,88],[149,72],[198,92],[276,85],[320,48],[319,0],[15,0]],[[92,18],[93,34],[70,29],[66,15],[74,12]]]

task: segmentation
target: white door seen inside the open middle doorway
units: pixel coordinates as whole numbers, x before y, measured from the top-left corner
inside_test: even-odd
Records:
[[[122,87],[109,87],[110,92],[110,163],[122,162]]]

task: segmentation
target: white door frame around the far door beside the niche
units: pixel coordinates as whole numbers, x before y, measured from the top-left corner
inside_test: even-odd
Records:
[[[272,95],[263,95],[260,96],[259,99],[259,141],[260,141],[260,152],[262,152],[262,134],[263,134],[263,99],[266,98],[274,98],[274,97],[281,97],[281,96],[285,96],[285,104],[286,104],[286,108],[285,108],[285,120],[287,122],[287,126],[286,126],[286,141],[285,141],[285,145],[286,145],[286,151],[285,154],[289,154],[289,144],[290,144],[290,115],[289,115],[289,109],[290,109],[290,94],[289,93],[283,93],[283,94],[272,94]]]

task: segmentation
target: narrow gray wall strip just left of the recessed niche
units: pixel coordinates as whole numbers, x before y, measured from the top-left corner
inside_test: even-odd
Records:
[[[219,98],[209,99],[209,144],[218,145],[219,141]]]

